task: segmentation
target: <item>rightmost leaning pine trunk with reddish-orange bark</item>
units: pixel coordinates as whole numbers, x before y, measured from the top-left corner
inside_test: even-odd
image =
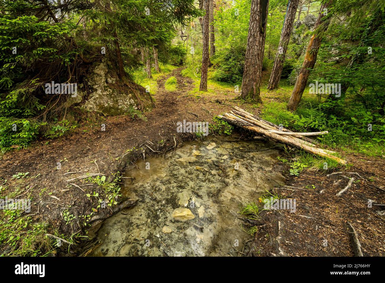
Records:
[[[308,78],[310,75],[310,69],[313,69],[317,60],[317,53],[321,46],[320,33],[324,32],[330,23],[330,17],[324,16],[323,9],[328,8],[332,1],[329,1],[321,5],[320,13],[314,26],[315,33],[311,36],[308,49],[306,50],[305,58],[303,59],[302,68],[298,74],[297,80],[294,85],[293,92],[288,103],[288,109],[295,111],[300,104],[300,100],[305,90]],[[328,11],[330,13],[330,11]],[[318,27],[321,27],[318,29]]]

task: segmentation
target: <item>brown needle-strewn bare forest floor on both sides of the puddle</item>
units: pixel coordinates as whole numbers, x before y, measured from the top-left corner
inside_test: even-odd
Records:
[[[103,122],[105,131],[100,131],[100,125],[83,126],[48,144],[37,142],[27,149],[4,154],[0,177],[7,181],[3,183],[2,195],[33,199],[32,220],[49,223],[47,233],[68,239],[84,231],[79,221],[66,224],[68,214],[84,219],[99,215],[99,220],[111,215],[108,209],[97,209],[97,202],[86,196],[94,191],[101,193],[100,186],[84,179],[68,179],[96,173],[114,180],[113,174],[124,171],[127,163],[162,154],[196,138],[195,134],[177,133],[177,122],[211,122],[212,117],[231,110],[234,105],[254,113],[258,111],[251,109],[250,104],[242,105],[240,100],[234,100],[237,94],[229,94],[226,88],[216,86],[198,94],[193,91],[194,81],[182,76],[181,70],[174,69],[157,80],[157,92],[153,96],[156,107],[145,113],[147,121],[130,116],[107,117]],[[171,76],[176,77],[176,90],[167,91],[164,85]],[[352,164],[346,172],[356,172],[359,176],[343,173],[328,177],[325,172],[310,169],[298,177],[287,176],[288,186],[278,189],[278,193],[283,198],[296,198],[296,213],[263,211],[255,240],[239,247],[239,255],[353,256],[355,247],[348,223],[358,235],[364,256],[385,254],[384,161],[362,154],[340,153]],[[277,160],[278,169],[287,172],[288,168],[283,168]],[[23,175],[26,172],[28,175]],[[65,174],[69,172],[75,173]],[[355,180],[339,197],[336,193],[349,181],[343,175]],[[373,203],[370,208],[369,199]]]

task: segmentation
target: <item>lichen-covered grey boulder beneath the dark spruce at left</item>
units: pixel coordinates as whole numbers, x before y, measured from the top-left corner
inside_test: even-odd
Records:
[[[80,106],[88,111],[114,116],[126,114],[129,109],[148,111],[153,107],[150,93],[128,79],[123,82],[108,62],[92,65],[85,84],[88,95],[84,85],[80,85],[79,95],[74,97],[72,103],[79,103],[81,99]]]

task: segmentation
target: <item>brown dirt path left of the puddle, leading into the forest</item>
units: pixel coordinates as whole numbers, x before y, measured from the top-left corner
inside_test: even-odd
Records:
[[[174,92],[164,89],[164,82],[170,76],[177,79],[177,90]],[[134,120],[129,116],[107,117],[103,122],[105,131],[101,131],[101,126],[88,132],[80,128],[70,136],[49,144],[43,145],[45,141],[36,142],[27,149],[8,152],[0,162],[0,178],[7,180],[2,195],[31,198],[30,214],[35,221],[50,223],[65,234],[82,231],[84,227],[81,223],[78,223],[79,227],[66,225],[62,211],[71,206],[69,212],[73,215],[92,213],[96,204],[86,194],[98,192],[99,188],[83,186],[82,181],[66,180],[87,173],[103,173],[108,177],[122,172],[126,162],[143,155],[143,150],[131,151],[133,148],[143,148],[145,156],[149,156],[154,154],[152,150],[164,152],[174,148],[175,142],[178,146],[184,140],[191,140],[194,137],[192,134],[176,132],[176,122],[183,119],[210,121],[212,116],[201,108],[208,109],[210,104],[215,103],[206,99],[192,99],[188,94],[191,88],[192,80],[182,77],[181,68],[175,69],[158,81],[158,91],[154,95],[156,107],[145,114],[147,121]],[[227,110],[221,105],[215,107],[211,114],[222,112],[221,109]],[[189,112],[199,116],[199,119]],[[147,143],[152,150],[144,146],[146,141],[152,142]],[[57,169],[57,162],[60,162],[61,169]],[[12,178],[19,172],[29,174],[25,178]],[[64,175],[66,172],[80,173]],[[104,214],[102,218],[110,216],[107,209],[99,209],[97,213]]]

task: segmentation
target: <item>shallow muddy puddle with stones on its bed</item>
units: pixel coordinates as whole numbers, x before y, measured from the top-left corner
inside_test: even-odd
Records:
[[[285,181],[271,147],[209,137],[138,161],[122,194],[139,202],[104,221],[90,256],[238,256],[251,239],[239,207]]]

